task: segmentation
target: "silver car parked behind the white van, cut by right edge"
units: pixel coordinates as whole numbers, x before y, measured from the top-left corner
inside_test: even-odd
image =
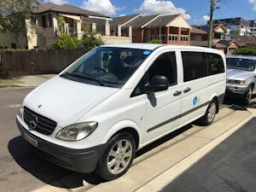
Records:
[[[227,56],[227,96],[248,104],[256,93],[256,56]]]

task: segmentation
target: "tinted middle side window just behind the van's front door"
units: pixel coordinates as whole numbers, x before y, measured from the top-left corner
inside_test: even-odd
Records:
[[[204,52],[182,52],[183,81],[207,76],[207,58]]]

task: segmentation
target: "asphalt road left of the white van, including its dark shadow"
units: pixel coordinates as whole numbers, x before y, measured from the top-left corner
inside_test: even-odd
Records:
[[[20,102],[31,90],[31,88],[0,89],[0,191],[32,191],[45,183],[53,183],[69,175],[72,175],[73,180],[78,181],[73,183],[71,188],[81,186],[83,179],[93,184],[101,183],[101,180],[94,175],[70,172],[49,163],[36,154],[20,137],[15,125],[15,116],[19,112]],[[222,108],[229,106],[230,101]]]

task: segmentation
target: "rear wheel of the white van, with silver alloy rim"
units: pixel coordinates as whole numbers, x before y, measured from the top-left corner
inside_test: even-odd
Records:
[[[198,119],[198,123],[200,125],[210,125],[212,124],[212,121],[217,113],[218,103],[215,99],[210,102],[207,108],[207,112],[204,116],[201,117],[201,119]]]

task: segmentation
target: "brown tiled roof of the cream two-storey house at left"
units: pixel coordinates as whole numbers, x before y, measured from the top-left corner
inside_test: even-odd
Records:
[[[35,14],[43,14],[46,12],[59,12],[59,13],[65,13],[65,14],[73,14],[73,15],[90,15],[90,16],[97,16],[97,17],[106,17],[108,18],[108,16],[106,15],[101,15],[101,14],[97,14],[95,12],[86,10],[86,9],[81,9],[78,7],[75,7],[73,5],[70,4],[61,4],[61,5],[56,5],[54,3],[44,3],[41,4],[38,9],[34,10],[33,13]]]

